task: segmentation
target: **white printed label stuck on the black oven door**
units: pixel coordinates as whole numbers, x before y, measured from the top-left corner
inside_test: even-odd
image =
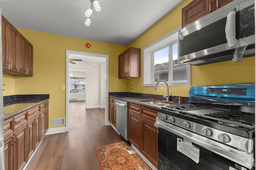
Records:
[[[196,148],[191,143],[182,141],[181,138],[177,138],[177,151],[188,156],[189,158],[194,160],[196,163],[199,162],[199,155],[200,155],[199,148]]]

